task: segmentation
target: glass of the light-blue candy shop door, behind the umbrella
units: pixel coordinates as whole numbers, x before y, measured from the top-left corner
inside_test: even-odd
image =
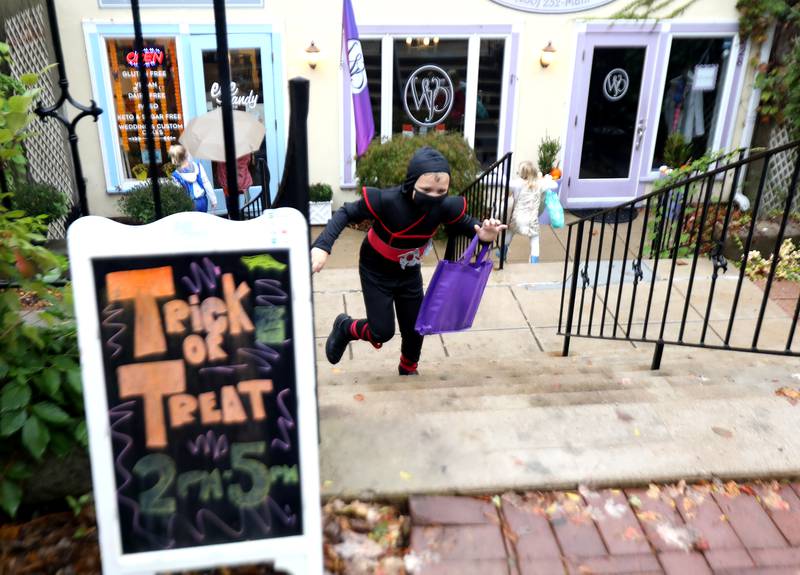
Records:
[[[264,85],[261,80],[261,49],[255,47],[231,48],[228,54],[231,63],[233,109],[253,114],[259,122],[263,123]],[[203,50],[203,76],[205,78],[206,110],[212,110],[222,105],[216,50]],[[243,170],[244,164],[239,166],[239,169]],[[256,163],[251,161],[247,169],[250,172],[249,180],[252,180],[252,185],[260,186],[261,173]],[[215,164],[212,172],[214,187],[221,188],[219,166]],[[242,171],[240,174],[244,174],[239,177],[240,181],[248,182],[246,172]]]

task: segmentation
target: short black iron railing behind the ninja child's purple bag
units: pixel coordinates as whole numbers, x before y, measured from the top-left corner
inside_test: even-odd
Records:
[[[486,218],[497,218],[503,222],[508,220],[508,193],[511,181],[511,152],[497,160],[494,164],[472,182],[462,192],[467,199],[467,213],[483,221]],[[505,245],[505,230],[497,237],[493,248]],[[447,239],[445,259],[453,260],[461,255],[470,238],[466,236],[450,236]],[[506,260],[506,250],[500,249],[500,269]]]

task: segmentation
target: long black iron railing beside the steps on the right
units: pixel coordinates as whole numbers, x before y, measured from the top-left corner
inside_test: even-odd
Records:
[[[770,167],[799,152],[800,141],[742,151],[570,223],[558,319],[563,355],[570,338],[584,337],[655,343],[653,369],[665,344],[800,356],[800,297],[784,307],[770,301],[776,278],[796,273],[782,267],[790,262],[780,252],[787,230],[800,225],[792,211],[800,160],[783,209],[758,217]],[[749,210],[739,209],[735,192],[752,199]],[[756,247],[764,259],[751,254]]]

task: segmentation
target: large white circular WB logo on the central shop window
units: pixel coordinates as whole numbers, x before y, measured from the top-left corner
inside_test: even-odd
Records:
[[[432,127],[445,121],[453,108],[453,82],[447,72],[429,64],[406,81],[403,107],[412,122]]]

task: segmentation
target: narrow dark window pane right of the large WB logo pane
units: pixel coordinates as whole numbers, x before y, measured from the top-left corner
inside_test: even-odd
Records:
[[[483,167],[488,167],[497,160],[505,45],[505,40],[481,40],[478,102],[475,111],[475,154]]]

